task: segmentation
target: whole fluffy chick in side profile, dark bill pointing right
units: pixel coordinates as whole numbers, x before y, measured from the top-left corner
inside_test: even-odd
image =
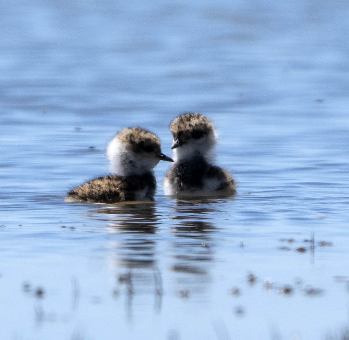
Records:
[[[109,143],[107,156],[112,174],[70,190],[66,202],[154,201],[153,169],[160,160],[173,162],[161,152],[157,136],[141,128],[121,130]]]

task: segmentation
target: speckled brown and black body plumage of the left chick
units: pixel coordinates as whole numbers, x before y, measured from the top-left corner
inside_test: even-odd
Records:
[[[136,201],[136,192],[144,190],[145,197],[154,201],[156,180],[153,173],[141,176],[105,176],[91,180],[68,192],[67,202],[117,203]]]

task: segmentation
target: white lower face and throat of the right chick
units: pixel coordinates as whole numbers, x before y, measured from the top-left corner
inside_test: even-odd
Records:
[[[208,161],[214,157],[213,147],[216,144],[216,134],[212,133],[199,139],[191,138],[185,144],[173,149],[175,160],[191,158],[194,154],[200,154]]]

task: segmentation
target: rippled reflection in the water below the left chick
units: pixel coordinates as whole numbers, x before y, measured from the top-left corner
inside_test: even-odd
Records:
[[[118,204],[99,207],[93,211],[98,219],[106,222],[112,250],[110,266],[116,268],[117,285],[125,287],[126,316],[132,320],[133,299],[136,296],[153,297],[154,310],[162,307],[162,275],[156,260],[159,215],[153,202],[142,204]],[[111,234],[116,234],[115,238]],[[119,270],[122,270],[121,272]],[[142,302],[149,304],[148,298]]]

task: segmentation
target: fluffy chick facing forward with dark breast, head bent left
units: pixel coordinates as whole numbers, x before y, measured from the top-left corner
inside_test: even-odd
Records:
[[[164,192],[171,196],[227,197],[235,183],[224,169],[213,165],[217,134],[200,113],[185,113],[170,124],[174,164],[165,176]]]

